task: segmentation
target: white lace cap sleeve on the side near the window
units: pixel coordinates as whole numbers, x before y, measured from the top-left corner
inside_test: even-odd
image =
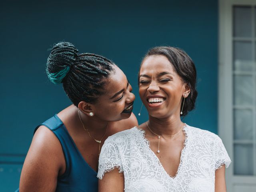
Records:
[[[215,140],[215,170],[221,168],[224,164],[226,168],[228,168],[230,163],[231,160],[228,156],[228,152],[226,151],[221,138],[217,136]]]

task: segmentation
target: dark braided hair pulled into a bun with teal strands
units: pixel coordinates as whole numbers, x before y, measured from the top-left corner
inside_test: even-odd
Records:
[[[78,54],[69,42],[53,46],[46,63],[46,73],[54,84],[63,84],[67,96],[79,102],[95,103],[104,94],[104,82],[114,72],[114,63],[90,53]]]

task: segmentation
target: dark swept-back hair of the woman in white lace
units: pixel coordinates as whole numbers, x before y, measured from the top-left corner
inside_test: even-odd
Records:
[[[174,70],[176,73],[182,78],[182,81],[186,83],[190,87],[190,94],[185,99],[184,107],[182,110],[182,114],[180,116],[186,116],[189,111],[195,108],[195,102],[197,97],[196,91],[196,67],[194,62],[184,52],[184,50],[180,48],[170,47],[170,46],[159,46],[151,48],[148,53],[144,56],[143,60],[146,57],[152,55],[163,55],[168,58],[170,63],[174,66]],[[142,62],[143,62],[142,60]],[[141,65],[140,65],[141,67]],[[138,75],[138,77],[140,74]],[[139,82],[139,78],[138,78]],[[180,106],[180,110],[182,105]]]

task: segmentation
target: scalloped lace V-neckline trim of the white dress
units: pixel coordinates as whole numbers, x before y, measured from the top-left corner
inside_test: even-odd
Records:
[[[164,166],[163,166],[162,163],[160,162],[158,156],[156,156],[156,154],[154,153],[154,151],[151,150],[151,148],[150,148],[150,141],[145,137],[145,136],[146,136],[145,130],[136,127],[136,129],[142,133],[142,134],[141,134],[141,135],[142,135],[142,139],[145,141],[145,144],[146,144],[148,150],[150,151],[150,153],[152,154],[152,156],[154,157],[154,159],[156,160],[156,162],[159,164],[159,166],[161,167],[161,169],[163,170],[163,172],[164,172],[170,179],[172,179],[172,180],[175,180],[175,179],[177,178],[177,176],[178,176],[178,174],[179,174],[179,172],[180,172],[179,170],[182,168],[182,160],[183,160],[183,158],[184,158],[186,146],[187,146],[187,143],[188,143],[188,133],[187,133],[187,130],[186,130],[187,128],[188,128],[188,125],[187,125],[186,123],[184,123],[184,126],[183,126],[183,128],[182,128],[182,131],[183,131],[184,134],[185,134],[185,140],[184,140],[183,148],[182,148],[181,154],[180,154],[180,164],[179,164],[179,166],[178,166],[178,170],[177,170],[176,174],[175,174],[174,176],[171,176],[171,175],[168,174],[168,173],[166,172],[166,170],[164,169]]]

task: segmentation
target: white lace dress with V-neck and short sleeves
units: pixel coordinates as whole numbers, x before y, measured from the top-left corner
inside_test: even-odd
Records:
[[[216,135],[188,125],[175,177],[164,170],[150,149],[144,130],[137,127],[110,136],[102,146],[98,178],[119,168],[124,172],[125,192],[214,192],[215,170],[230,164],[230,158]],[[170,162],[171,163],[171,162]]]

